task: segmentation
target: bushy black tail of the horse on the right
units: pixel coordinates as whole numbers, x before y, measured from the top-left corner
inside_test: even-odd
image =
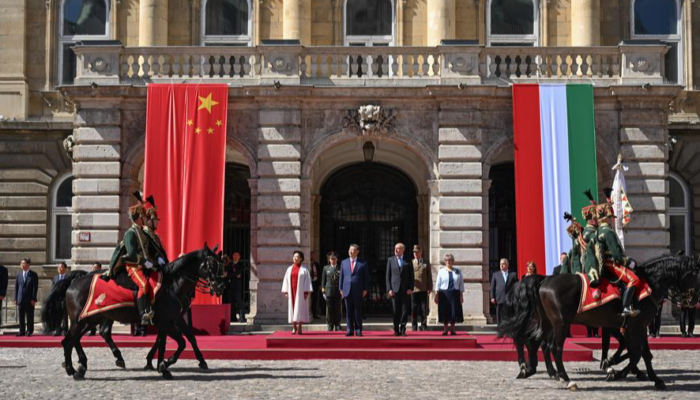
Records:
[[[539,289],[544,279],[542,275],[526,276],[508,292],[498,337],[509,337],[515,343],[525,344],[528,339],[542,336]]]

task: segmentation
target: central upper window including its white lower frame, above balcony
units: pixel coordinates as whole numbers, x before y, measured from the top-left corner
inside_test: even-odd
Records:
[[[393,0],[345,0],[346,46],[393,46]]]

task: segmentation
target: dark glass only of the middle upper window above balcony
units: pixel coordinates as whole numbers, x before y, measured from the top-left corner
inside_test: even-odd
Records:
[[[392,35],[391,0],[348,0],[346,33],[349,36]]]

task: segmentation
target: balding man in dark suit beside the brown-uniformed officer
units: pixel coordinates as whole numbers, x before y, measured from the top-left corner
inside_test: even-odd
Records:
[[[386,262],[386,289],[394,307],[394,336],[406,336],[406,323],[411,314],[413,293],[413,266],[403,259],[406,246],[397,243],[394,257]]]

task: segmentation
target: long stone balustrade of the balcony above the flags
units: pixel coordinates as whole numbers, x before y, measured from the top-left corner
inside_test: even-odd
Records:
[[[611,47],[123,47],[84,43],[75,85],[426,86],[537,81],[663,83],[664,45]]]

